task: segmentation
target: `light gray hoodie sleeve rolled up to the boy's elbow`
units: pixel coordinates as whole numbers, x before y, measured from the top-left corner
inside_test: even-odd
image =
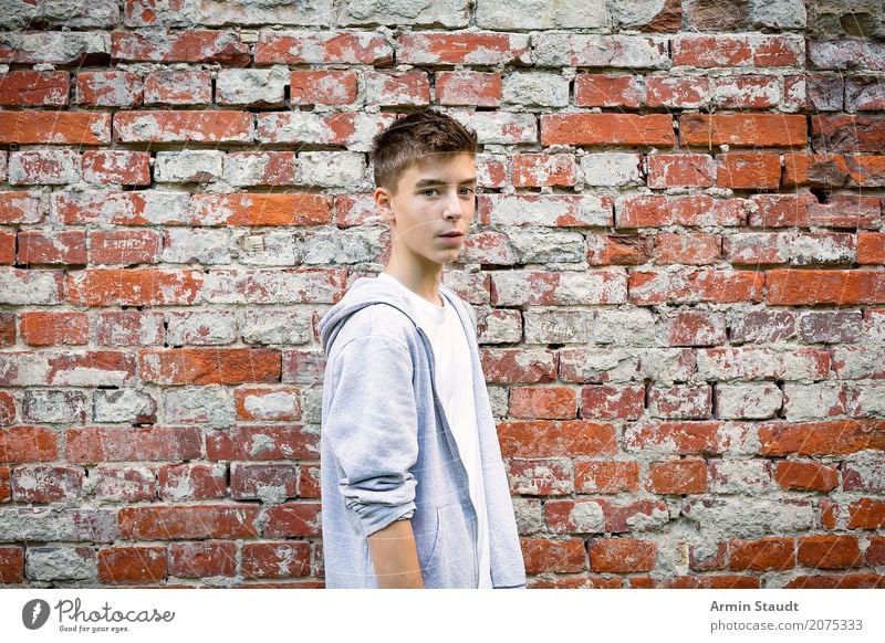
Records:
[[[350,340],[332,365],[322,440],[339,465],[339,489],[371,536],[415,510],[418,413],[408,349],[391,337]]]

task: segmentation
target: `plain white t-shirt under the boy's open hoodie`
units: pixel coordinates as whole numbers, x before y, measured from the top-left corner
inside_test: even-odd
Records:
[[[430,340],[434,350],[437,393],[442,402],[449,426],[458,445],[458,453],[467,470],[470,500],[477,512],[477,547],[479,589],[491,588],[489,560],[489,519],[486,493],[479,460],[479,434],[473,399],[473,377],[470,346],[458,313],[440,295],[442,306],[428,302],[408,289],[399,280],[381,273],[378,278],[396,284],[413,302],[418,325]]]

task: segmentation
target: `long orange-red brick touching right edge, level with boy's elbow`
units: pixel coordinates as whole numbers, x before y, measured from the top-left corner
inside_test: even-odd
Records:
[[[885,450],[885,422],[830,420],[768,422],[759,426],[759,454],[783,456],[846,455],[866,449]]]

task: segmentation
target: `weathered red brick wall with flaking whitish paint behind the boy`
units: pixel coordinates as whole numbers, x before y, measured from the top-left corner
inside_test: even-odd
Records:
[[[482,144],[533,587],[885,582],[875,0],[3,0],[0,580],[322,586],[372,136]]]

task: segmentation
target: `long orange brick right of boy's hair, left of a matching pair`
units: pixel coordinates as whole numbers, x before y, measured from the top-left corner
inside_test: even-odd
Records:
[[[671,146],[669,114],[542,114],[541,145]]]

